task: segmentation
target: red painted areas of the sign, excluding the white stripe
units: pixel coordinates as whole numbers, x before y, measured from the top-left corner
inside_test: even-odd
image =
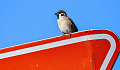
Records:
[[[108,30],[92,30],[74,33],[72,34],[72,38],[91,34],[109,34],[115,39],[116,50],[107,66],[107,70],[110,70],[119,53],[120,43],[118,37]],[[4,48],[0,50],[0,54],[66,40],[68,38],[69,35],[66,35],[65,39],[59,36]],[[92,70],[92,66],[94,70],[99,70],[110,46],[110,42],[106,39],[89,40],[59,46],[56,48],[0,59],[0,70]],[[92,61],[90,52],[92,54]]]

